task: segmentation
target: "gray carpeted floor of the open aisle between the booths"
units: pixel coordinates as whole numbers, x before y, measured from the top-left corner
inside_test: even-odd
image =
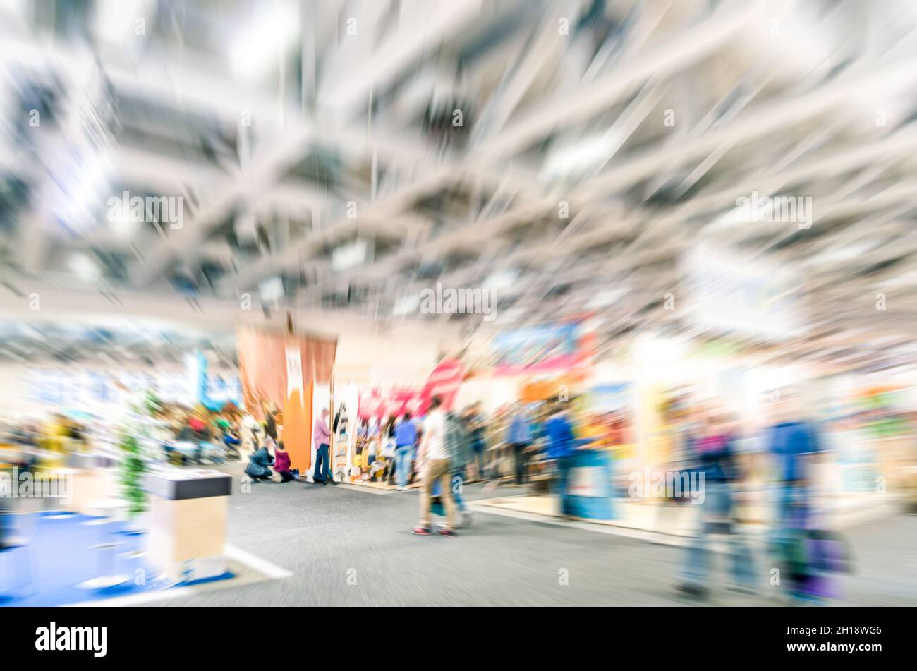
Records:
[[[481,485],[467,486],[466,496],[481,498]],[[695,604],[674,590],[682,556],[676,547],[481,512],[458,537],[417,537],[410,534],[416,518],[416,492],[254,484],[230,498],[227,539],[293,577],[155,605]],[[857,574],[843,578],[840,604],[917,605],[917,517],[889,517],[848,537]],[[779,588],[767,585],[768,567],[760,570],[758,596],[714,587],[703,604],[781,605]]]

